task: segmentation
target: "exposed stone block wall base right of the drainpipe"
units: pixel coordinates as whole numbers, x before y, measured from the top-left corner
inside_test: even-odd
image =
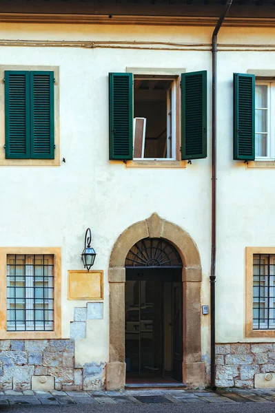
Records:
[[[275,372],[275,343],[216,344],[216,385],[254,388],[257,373]]]

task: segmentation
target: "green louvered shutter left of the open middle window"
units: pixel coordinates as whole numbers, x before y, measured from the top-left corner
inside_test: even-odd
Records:
[[[132,159],[132,73],[109,73],[109,109],[110,159]]]

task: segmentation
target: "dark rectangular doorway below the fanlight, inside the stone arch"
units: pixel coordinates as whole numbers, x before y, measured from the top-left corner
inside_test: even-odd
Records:
[[[126,271],[127,377],[182,381],[181,270]]]

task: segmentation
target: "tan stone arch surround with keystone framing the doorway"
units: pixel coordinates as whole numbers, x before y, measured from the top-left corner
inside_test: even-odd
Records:
[[[110,361],[106,366],[106,388],[125,386],[125,257],[143,238],[164,238],[179,251],[183,261],[183,383],[204,387],[205,364],[201,361],[201,258],[192,237],[180,226],[153,213],[147,220],[125,229],[116,240],[110,257]]]

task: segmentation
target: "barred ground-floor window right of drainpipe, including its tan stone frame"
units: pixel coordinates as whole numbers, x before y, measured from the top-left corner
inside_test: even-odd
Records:
[[[246,248],[246,337],[275,337],[275,248]]]

